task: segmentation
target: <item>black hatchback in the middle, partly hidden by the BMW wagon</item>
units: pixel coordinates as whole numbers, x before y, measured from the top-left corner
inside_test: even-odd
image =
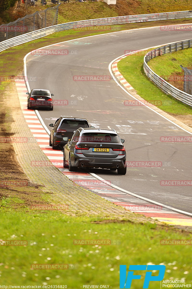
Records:
[[[79,127],[93,127],[90,126],[88,120],[86,118],[75,118],[75,117],[64,117],[60,116],[55,122],[55,124],[51,123],[49,125],[53,127],[50,133],[49,145],[56,149],[56,147],[60,145],[65,145],[68,140],[71,139],[71,136]],[[93,127],[94,128],[94,127]],[[67,141],[64,141],[62,138],[66,136],[68,137]]]

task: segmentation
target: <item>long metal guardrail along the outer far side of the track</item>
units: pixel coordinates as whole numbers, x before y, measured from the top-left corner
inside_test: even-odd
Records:
[[[28,32],[26,34],[16,36],[8,40],[4,40],[0,42],[0,52],[7,48],[20,45],[25,42],[32,41],[32,40],[35,40],[43,36],[52,34],[54,32],[62,31],[62,30],[78,29],[80,27],[89,27],[89,26],[98,26],[98,25],[116,25],[116,24],[125,24],[125,23],[136,23],[136,22],[169,20],[169,19],[180,19],[180,18],[192,18],[192,10],[168,12],[168,13],[128,15],[128,16],[89,19],[89,20],[83,20],[83,21],[62,23],[62,24],[46,27],[43,29],[35,30],[33,32]]]

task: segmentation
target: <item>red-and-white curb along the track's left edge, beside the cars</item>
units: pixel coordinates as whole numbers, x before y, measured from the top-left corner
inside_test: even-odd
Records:
[[[34,138],[39,144],[39,147],[45,153],[48,160],[50,160],[50,162],[66,177],[72,180],[75,184],[116,205],[121,205],[131,212],[142,214],[153,219],[158,219],[159,221],[166,222],[170,225],[192,226],[192,218],[190,216],[174,212],[164,208],[163,206],[149,203],[128,193],[122,192],[110,186],[109,181],[100,181],[86,172],[69,172],[68,169],[63,168],[62,151],[53,150],[52,147],[49,146],[49,134],[42,126],[35,111],[27,109],[26,92],[28,91],[25,82],[17,81],[16,88],[24,118]],[[35,166],[35,162],[39,162],[39,160],[31,160],[31,162],[34,162],[32,165]]]

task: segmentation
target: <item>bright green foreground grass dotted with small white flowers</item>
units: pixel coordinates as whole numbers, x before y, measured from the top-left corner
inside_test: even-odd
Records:
[[[99,217],[70,217],[61,212],[16,212],[3,207],[1,240],[27,240],[28,245],[0,245],[1,285],[83,285],[108,284],[119,288],[119,265],[166,265],[164,279],[191,279],[191,255],[188,245],[161,245],[161,239],[190,239],[187,233],[155,224],[125,222],[95,223]],[[120,244],[74,245],[73,240],[112,240]],[[75,269],[33,269],[33,264],[73,264]],[[73,267],[69,265],[70,268]],[[139,272],[138,272],[139,273]],[[134,289],[142,288],[142,279],[134,282]],[[153,273],[155,275],[155,273]],[[110,287],[109,287],[110,288]],[[151,282],[149,289],[160,288]]]

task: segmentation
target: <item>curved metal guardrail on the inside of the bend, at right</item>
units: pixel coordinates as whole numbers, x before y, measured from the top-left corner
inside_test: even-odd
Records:
[[[192,39],[174,42],[168,45],[155,48],[147,52],[147,54],[145,54],[143,69],[147,77],[149,77],[149,79],[151,79],[161,90],[163,90],[163,92],[165,92],[168,95],[171,95],[172,97],[182,101],[185,104],[192,106],[192,95],[182,90],[179,90],[178,88],[174,87],[173,85],[165,81],[165,79],[157,75],[147,64],[150,61],[150,59],[160,56],[162,54],[172,53],[174,51],[190,47],[192,47]]]

